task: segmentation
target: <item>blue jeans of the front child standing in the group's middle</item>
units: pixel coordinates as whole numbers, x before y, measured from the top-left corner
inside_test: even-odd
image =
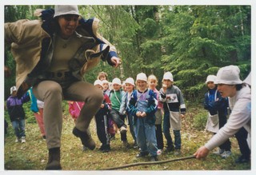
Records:
[[[151,156],[156,156],[158,147],[155,137],[155,127],[146,123],[145,119],[146,117],[138,117],[134,125],[137,144],[142,153],[149,152]]]

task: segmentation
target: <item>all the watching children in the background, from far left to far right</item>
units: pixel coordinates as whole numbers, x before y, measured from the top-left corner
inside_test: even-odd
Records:
[[[218,129],[226,124],[229,103],[227,98],[221,97],[218,93],[214,80],[214,75],[209,75],[206,78],[208,91],[205,94],[204,108],[209,112],[206,130],[217,133]],[[114,78],[110,88],[107,74],[102,72],[98,75],[94,86],[102,89],[104,95],[101,108],[95,115],[97,135],[102,143],[100,150],[103,153],[110,151],[110,139],[116,133],[114,128],[120,130],[123,145],[130,148],[126,135],[126,121],[134,139],[133,147],[140,150],[136,157],[146,157],[150,154],[150,161],[158,161],[158,155],[162,153],[164,148],[162,133],[166,137],[166,151],[174,151],[174,155],[181,153],[182,117],[185,117],[186,105],[181,90],[174,86],[174,78],[170,72],[163,75],[162,88],[159,91],[156,88],[158,79],[153,74],[147,78],[144,73],[138,74],[135,82],[133,78],[126,78],[123,83],[119,78]],[[39,114],[42,114],[42,107],[38,105],[40,101],[34,98],[31,90],[29,91],[30,97],[26,93],[21,99],[16,97],[15,87],[10,89],[10,93],[11,96],[7,99],[6,106],[17,137],[16,141],[22,139],[22,142],[25,142],[25,113],[22,104],[30,99],[37,103],[35,108],[34,105],[31,105],[31,110],[35,113],[42,137],[45,138],[42,116],[38,117]],[[80,101],[68,102],[70,115],[75,121],[82,106],[86,104]],[[174,133],[174,142],[170,129]],[[250,149],[248,151],[246,146],[242,145],[244,142],[242,139],[245,135],[246,133],[242,132],[241,129],[236,137],[242,156],[249,160]],[[227,140],[219,146],[216,153],[222,158],[229,157],[230,148],[230,140]]]

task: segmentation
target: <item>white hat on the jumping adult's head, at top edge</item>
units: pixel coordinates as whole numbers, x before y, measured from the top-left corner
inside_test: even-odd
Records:
[[[65,14],[76,14],[80,16],[78,6],[56,5],[54,7],[54,18]]]

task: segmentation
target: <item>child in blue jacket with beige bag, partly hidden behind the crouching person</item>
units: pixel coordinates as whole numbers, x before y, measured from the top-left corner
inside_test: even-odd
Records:
[[[215,75],[208,75],[206,78],[208,90],[205,93],[204,101],[204,108],[208,110],[206,130],[212,133],[217,133],[218,129],[226,124],[227,108],[229,107],[228,98],[222,97],[218,92],[217,86],[214,84],[215,80]],[[222,158],[230,157],[230,149],[231,142],[230,139],[227,139],[222,145],[219,145],[219,149],[215,153]]]

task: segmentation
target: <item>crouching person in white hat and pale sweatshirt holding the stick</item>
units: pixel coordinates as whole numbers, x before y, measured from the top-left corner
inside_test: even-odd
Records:
[[[215,84],[218,84],[218,91],[222,97],[229,97],[232,112],[226,125],[219,129],[218,133],[206,145],[203,145],[194,153],[194,156],[198,159],[206,157],[210,150],[221,145],[229,137],[233,137],[242,127],[248,131],[248,142],[250,142],[250,87],[243,84],[239,74],[238,66],[226,66],[218,70]]]

